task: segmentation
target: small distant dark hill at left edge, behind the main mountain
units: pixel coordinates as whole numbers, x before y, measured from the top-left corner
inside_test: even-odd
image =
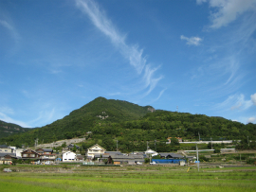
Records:
[[[22,128],[13,123],[7,123],[0,120],[0,138],[8,137],[11,134],[29,131],[28,128]]]

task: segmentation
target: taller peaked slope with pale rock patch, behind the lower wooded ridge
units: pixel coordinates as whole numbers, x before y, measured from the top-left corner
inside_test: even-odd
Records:
[[[20,146],[21,144],[33,145],[35,138],[39,139],[39,144],[69,139],[82,136],[87,131],[93,131],[97,125],[104,126],[104,124],[136,120],[146,113],[151,113],[152,110],[154,109],[151,106],[141,107],[123,100],[98,97],[52,124],[0,141]]]

